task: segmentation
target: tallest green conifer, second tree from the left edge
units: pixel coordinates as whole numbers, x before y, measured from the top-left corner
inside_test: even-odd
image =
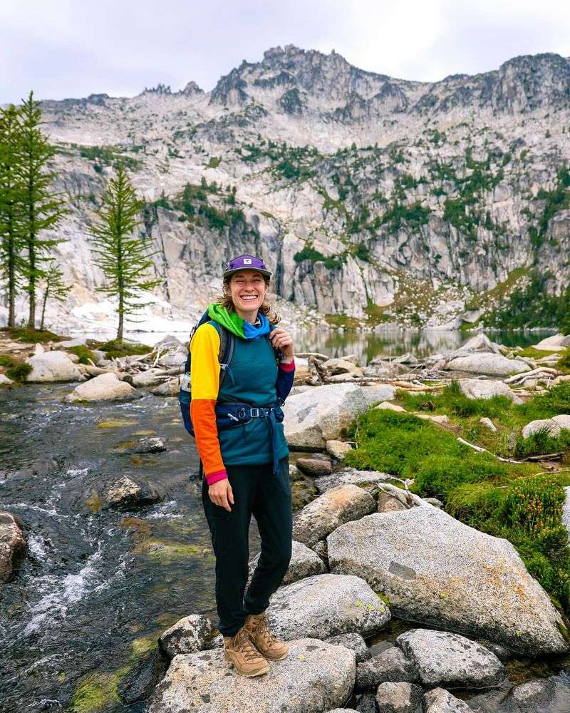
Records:
[[[50,260],[50,248],[61,240],[40,237],[41,231],[56,227],[68,209],[60,194],[51,187],[56,173],[48,170],[48,161],[55,149],[41,133],[41,111],[34,101],[33,91],[22,103],[21,141],[18,144],[21,178],[24,181],[24,240],[26,242],[26,292],[30,309],[28,328],[36,329],[36,288],[38,280],[46,277],[41,267]]]

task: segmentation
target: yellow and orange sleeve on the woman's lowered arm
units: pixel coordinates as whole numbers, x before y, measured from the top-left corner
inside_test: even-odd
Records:
[[[202,324],[190,342],[192,363],[190,416],[196,446],[208,485],[227,478],[219,448],[215,406],[219,390],[219,334],[212,324]]]

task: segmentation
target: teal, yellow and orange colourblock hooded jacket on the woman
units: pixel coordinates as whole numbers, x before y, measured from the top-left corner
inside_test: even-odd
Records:
[[[234,334],[234,355],[222,387],[219,386],[219,332],[212,321],[196,330],[190,353],[192,364],[192,401],[190,414],[196,445],[208,485],[227,478],[226,465],[262,465],[273,461],[269,419],[254,418],[218,433],[214,407],[216,401],[269,407],[279,404],[291,391],[294,361],[276,363],[274,350],[266,339],[273,327],[264,315],[252,325],[234,312],[217,304],[210,305],[212,321]],[[276,447],[279,459],[289,453],[283,424],[276,423]]]

